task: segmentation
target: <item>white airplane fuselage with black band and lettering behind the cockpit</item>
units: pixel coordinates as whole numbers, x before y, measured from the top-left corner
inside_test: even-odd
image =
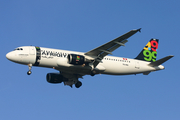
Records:
[[[67,62],[68,54],[84,55],[83,52],[74,52],[59,49],[50,49],[35,46],[23,46],[9,52],[6,57],[16,63],[39,67],[54,68],[61,72],[88,75],[93,67],[89,65],[72,65]],[[96,74],[127,75],[148,73],[164,69],[164,66],[148,66],[150,62],[122,57],[105,56],[94,68]]]

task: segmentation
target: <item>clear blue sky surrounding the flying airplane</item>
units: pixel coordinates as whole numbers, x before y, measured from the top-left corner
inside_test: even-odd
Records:
[[[179,120],[178,0],[0,1],[0,119],[2,120]],[[174,58],[165,70],[130,76],[85,76],[71,89],[46,82],[48,68],[10,62],[7,52],[36,45],[87,52],[132,29],[142,28],[115,56],[134,58],[151,38],[160,40],[157,59]]]

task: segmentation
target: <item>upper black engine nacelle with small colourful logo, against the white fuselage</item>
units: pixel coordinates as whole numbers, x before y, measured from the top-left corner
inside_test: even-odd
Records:
[[[67,59],[68,63],[73,65],[83,65],[85,63],[85,57],[82,55],[69,54]]]

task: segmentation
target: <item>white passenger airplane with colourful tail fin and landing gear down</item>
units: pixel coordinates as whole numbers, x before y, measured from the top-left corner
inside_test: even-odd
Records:
[[[148,75],[153,71],[163,70],[162,63],[174,57],[169,55],[156,60],[158,39],[151,39],[142,49],[139,55],[134,58],[123,58],[108,56],[120,46],[125,46],[128,38],[140,29],[131,30],[122,36],[111,40],[86,53],[67,51],[60,49],[51,49],[38,46],[22,46],[6,54],[6,58],[12,62],[27,65],[30,75],[32,66],[53,68],[59,73],[47,73],[46,80],[49,83],[64,83],[72,88],[82,86],[79,78],[85,75]]]

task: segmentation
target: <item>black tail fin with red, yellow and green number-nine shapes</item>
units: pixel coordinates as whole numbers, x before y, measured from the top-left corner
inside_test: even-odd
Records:
[[[158,42],[158,39],[151,39],[135,59],[155,62],[157,57]]]

